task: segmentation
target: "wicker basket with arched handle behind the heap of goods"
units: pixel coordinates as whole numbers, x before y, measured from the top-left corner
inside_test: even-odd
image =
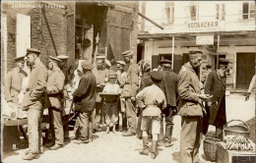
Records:
[[[234,121],[241,122],[242,124],[227,126],[228,124]],[[231,120],[224,126],[224,136],[244,136],[248,138],[249,127],[245,122],[241,120]]]

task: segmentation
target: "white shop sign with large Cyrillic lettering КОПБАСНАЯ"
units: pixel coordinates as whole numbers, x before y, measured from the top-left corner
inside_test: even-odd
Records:
[[[190,21],[187,23],[188,32],[218,31],[219,21]]]

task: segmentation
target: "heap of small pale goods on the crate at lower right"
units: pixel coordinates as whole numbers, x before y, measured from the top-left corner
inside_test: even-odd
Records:
[[[244,136],[224,136],[224,142],[228,150],[253,150],[253,144]]]

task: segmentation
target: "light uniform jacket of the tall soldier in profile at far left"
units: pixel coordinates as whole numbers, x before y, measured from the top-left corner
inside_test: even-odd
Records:
[[[43,98],[45,97],[47,77],[48,71],[46,67],[42,64],[42,62],[39,62],[32,67],[29,86],[21,105],[24,110],[42,109],[42,102]]]

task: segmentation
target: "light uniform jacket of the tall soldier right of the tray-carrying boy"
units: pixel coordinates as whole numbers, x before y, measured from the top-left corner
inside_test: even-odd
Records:
[[[139,87],[139,67],[136,63],[131,63],[127,70],[127,77],[124,84],[122,97],[135,97]]]

